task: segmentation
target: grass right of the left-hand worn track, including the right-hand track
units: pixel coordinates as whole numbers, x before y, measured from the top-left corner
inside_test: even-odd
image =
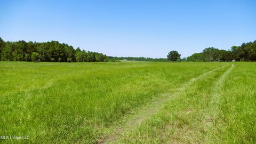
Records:
[[[198,79],[145,123],[123,132],[126,143],[255,143],[256,63],[229,63]]]

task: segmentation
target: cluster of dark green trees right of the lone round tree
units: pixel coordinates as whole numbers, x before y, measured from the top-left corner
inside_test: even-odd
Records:
[[[256,61],[256,41],[232,46],[230,50],[208,47],[201,53],[194,53],[187,61]]]

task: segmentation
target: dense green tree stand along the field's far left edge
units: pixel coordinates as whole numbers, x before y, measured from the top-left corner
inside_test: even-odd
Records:
[[[90,52],[73,46],[51,41],[4,42],[0,37],[0,59],[3,61],[51,61],[51,62],[98,62],[108,61],[105,54]]]

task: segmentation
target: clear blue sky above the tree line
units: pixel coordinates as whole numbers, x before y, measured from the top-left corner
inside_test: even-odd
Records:
[[[4,41],[59,41],[109,56],[181,57],[256,39],[256,1],[0,0]]]

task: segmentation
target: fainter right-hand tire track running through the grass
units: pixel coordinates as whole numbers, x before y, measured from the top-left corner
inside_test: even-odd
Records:
[[[218,104],[221,98],[220,91],[223,88],[223,84],[225,82],[226,77],[231,73],[233,68],[234,64],[232,64],[230,68],[225,70],[225,72],[222,75],[220,75],[217,81],[215,82],[215,85],[212,88],[212,94],[209,94],[209,106],[203,107],[205,108],[204,111],[199,114],[202,115],[202,119],[194,119],[193,122],[190,123],[190,125],[194,126],[193,129],[191,129],[191,127],[189,128],[185,126],[184,128],[182,128],[182,130],[179,130],[179,137],[181,137],[182,140],[191,143],[208,143],[205,142],[206,135],[209,134],[207,132],[209,132],[209,129],[214,125],[214,123],[216,122],[215,120],[217,119]],[[183,114],[189,113],[189,111],[182,112]],[[201,141],[198,141],[198,139]],[[183,143],[184,141],[172,141],[170,143]]]

